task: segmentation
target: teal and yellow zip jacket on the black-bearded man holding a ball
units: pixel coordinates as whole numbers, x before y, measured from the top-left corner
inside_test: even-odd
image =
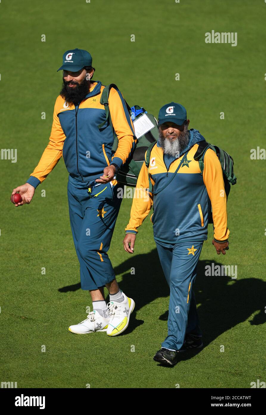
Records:
[[[104,85],[91,83],[89,93],[79,105],[70,105],[59,95],[53,112],[53,125],[48,146],[31,173],[27,183],[35,188],[46,178],[63,156],[65,166],[73,183],[93,181],[102,175],[111,161],[121,167],[135,148],[136,137],[133,122],[126,108],[123,95],[111,88],[109,110],[118,148],[114,156],[111,148],[114,134],[106,121],[104,105],[100,98]]]

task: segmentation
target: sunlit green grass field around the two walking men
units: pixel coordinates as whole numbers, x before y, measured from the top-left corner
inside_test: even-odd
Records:
[[[0,382],[21,388],[250,388],[252,381],[266,381],[266,161],[250,159],[251,149],[266,145],[266,3],[9,0],[0,12],[1,148],[17,149],[16,163],[0,160]],[[212,29],[237,32],[237,46],[206,44]],[[209,226],[194,289],[205,347],[182,354],[172,369],[152,360],[167,334],[169,292],[148,218],[135,253],[122,247],[131,200],[121,205],[109,257],[136,306],[128,330],[114,338],[68,332],[92,303],[80,289],[63,160],[30,205],[10,203],[13,188],[25,183],[48,143],[62,82],[56,70],[63,52],[75,47],[92,54],[94,78],[116,83],[128,103],[155,116],[165,103],[183,104],[190,127],[235,161],[238,182],[227,204],[230,250],[216,255]],[[205,276],[212,262],[237,265],[237,280]]]

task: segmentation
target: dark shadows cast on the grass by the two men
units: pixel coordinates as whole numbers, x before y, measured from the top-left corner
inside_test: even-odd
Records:
[[[259,311],[249,320],[250,325],[260,325],[266,322],[265,291],[266,283],[258,278],[232,280],[229,276],[205,276],[206,265],[214,261],[198,261],[198,271],[193,291],[196,295],[197,310],[203,332],[203,344],[206,347],[220,334],[244,322],[256,311]],[[215,265],[221,265],[215,262]],[[135,275],[131,275],[131,268],[135,268]],[[115,274],[123,274],[119,283],[121,290],[135,300],[135,310],[160,297],[168,297],[169,287],[164,278],[157,250],[148,254],[129,256],[126,261],[117,266]],[[60,292],[76,291],[80,283],[60,288]],[[133,319],[132,319],[133,317]],[[136,320],[135,313],[131,317],[130,328],[126,333],[132,332],[143,324],[143,320]],[[168,310],[162,315],[156,315],[154,308],[154,321],[157,318],[167,321]],[[166,323],[167,324],[167,323]],[[125,333],[125,334],[126,334]],[[162,339],[163,341],[164,339]],[[187,360],[202,349],[188,351],[180,354],[179,360]]]

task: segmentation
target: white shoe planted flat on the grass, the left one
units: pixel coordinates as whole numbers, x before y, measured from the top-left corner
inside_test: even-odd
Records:
[[[102,317],[97,310],[89,312],[87,318],[80,322],[70,326],[68,330],[71,333],[86,334],[93,332],[106,332],[110,318]]]

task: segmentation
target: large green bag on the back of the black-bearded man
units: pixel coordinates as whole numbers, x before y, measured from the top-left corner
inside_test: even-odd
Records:
[[[104,122],[102,122],[102,124],[98,125],[98,128],[99,129],[102,128],[106,120],[109,123],[108,125],[111,125],[113,134],[114,134],[114,144],[111,149],[111,152],[113,155],[116,152],[117,147],[118,147],[118,138],[114,132],[114,128],[112,125],[112,120],[111,120],[111,116],[109,112],[108,98],[109,98],[110,89],[112,87],[118,90],[117,86],[112,83],[110,85],[107,85],[102,91],[100,103],[104,105],[104,109],[106,112],[106,119],[104,120]],[[126,103],[126,107],[131,116],[132,121],[135,121],[136,119],[141,117],[141,115],[146,114],[147,117],[152,122],[152,124],[154,125],[154,127],[150,131],[148,131],[146,134],[144,134],[143,136],[137,139],[137,143],[133,151],[133,154],[130,156],[128,161],[121,166],[121,169],[118,171],[118,173],[116,173],[116,180],[119,183],[125,184],[127,186],[135,187],[137,184],[140,169],[143,165],[143,162],[145,161],[145,152],[148,150],[148,147],[150,146],[151,143],[155,144],[157,140],[159,139],[159,130],[158,130],[156,118],[152,114],[149,114],[147,111],[145,111],[143,107],[140,107],[138,105],[129,107],[126,100],[125,100],[125,103]]]

